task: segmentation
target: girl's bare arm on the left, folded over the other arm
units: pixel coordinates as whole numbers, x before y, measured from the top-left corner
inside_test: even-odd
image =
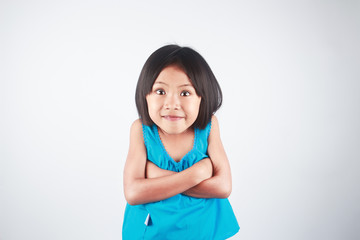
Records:
[[[195,166],[196,165],[196,166]],[[205,162],[177,174],[145,178],[146,148],[140,120],[131,126],[130,146],[124,168],[124,193],[131,205],[160,201],[182,193],[211,177]]]

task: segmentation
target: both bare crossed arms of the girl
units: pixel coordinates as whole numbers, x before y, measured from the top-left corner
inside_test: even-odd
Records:
[[[230,195],[230,165],[215,116],[208,138],[209,158],[181,172],[160,169],[147,161],[142,134],[141,122],[136,120],[131,126],[124,168],[124,192],[130,205],[156,202],[179,193],[198,198],[227,198]]]

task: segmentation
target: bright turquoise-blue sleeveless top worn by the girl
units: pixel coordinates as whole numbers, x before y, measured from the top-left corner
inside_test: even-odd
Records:
[[[194,145],[179,162],[174,161],[161,142],[156,125],[143,125],[147,159],[158,167],[180,172],[207,158],[211,122],[195,128]],[[141,204],[126,205],[123,240],[224,240],[240,227],[228,199],[194,198],[183,194]]]

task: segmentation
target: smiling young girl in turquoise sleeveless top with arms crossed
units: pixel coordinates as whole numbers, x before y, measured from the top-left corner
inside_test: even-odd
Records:
[[[220,86],[196,51],[164,46],[136,88],[140,119],[124,169],[123,239],[223,240],[239,225],[227,199],[231,172],[219,125]]]

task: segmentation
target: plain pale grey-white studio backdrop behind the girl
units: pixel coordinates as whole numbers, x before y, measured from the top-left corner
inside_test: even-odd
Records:
[[[121,239],[140,70],[190,46],[224,94],[232,239],[360,238],[360,3],[0,2],[0,239]]]

